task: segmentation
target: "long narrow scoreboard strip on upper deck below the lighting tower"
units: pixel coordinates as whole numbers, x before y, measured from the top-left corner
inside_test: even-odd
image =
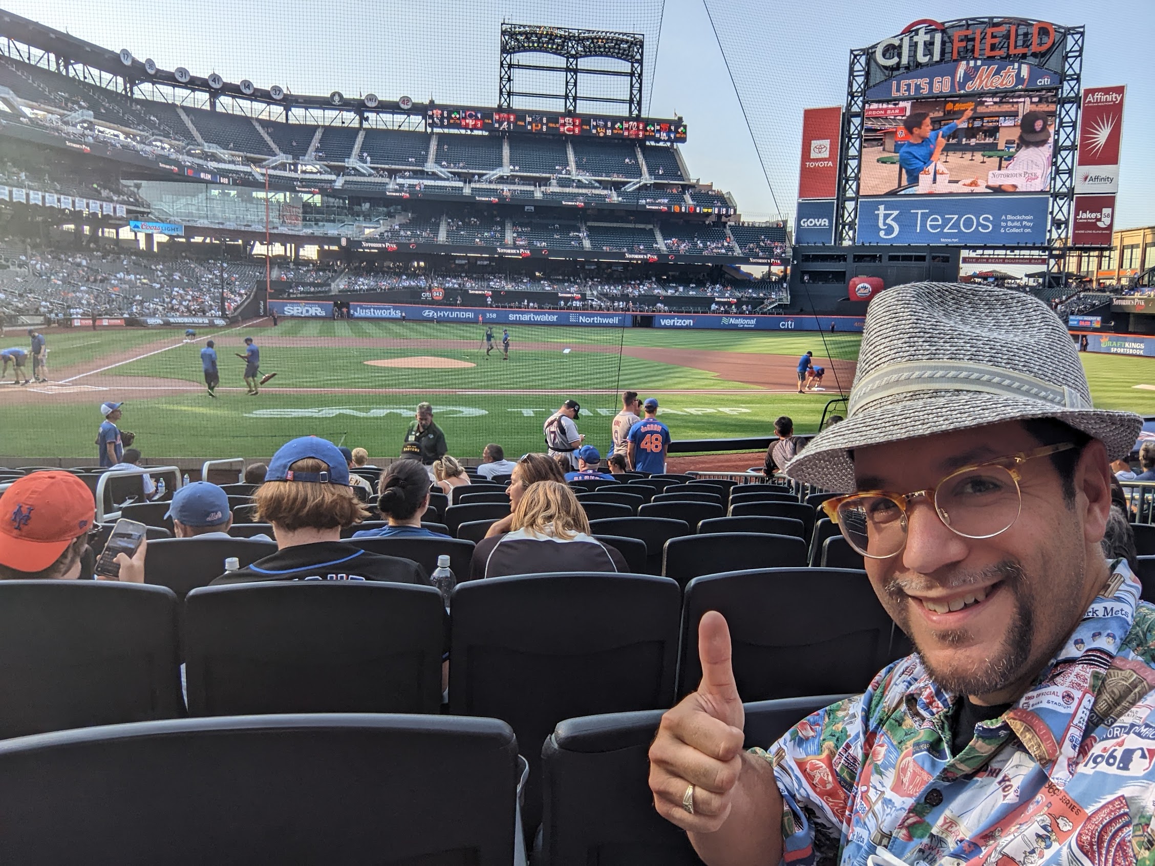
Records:
[[[512,109],[433,107],[426,111],[430,129],[478,129],[492,133],[544,133],[591,135],[598,139],[684,142],[684,120],[653,118],[603,118],[543,114]]]

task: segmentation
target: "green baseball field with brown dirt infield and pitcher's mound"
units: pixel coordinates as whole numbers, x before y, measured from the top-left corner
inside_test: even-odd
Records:
[[[96,457],[99,405],[124,401],[119,426],[146,460],[269,456],[286,439],[315,434],[372,457],[396,456],[416,404],[429,401],[449,453],[480,455],[486,442],[520,455],[543,448],[542,424],[562,401],[582,405],[579,428],[605,450],[623,389],[657,397],[676,440],[769,434],[789,415],[817,430],[827,402],[849,389],[859,337],[849,334],[678,331],[642,328],[501,328],[486,354],[475,324],[267,320],[186,342],[184,329],[47,330],[47,383],[0,386],[0,453]],[[277,375],[248,396],[244,337]],[[221,386],[204,388],[200,350],[216,343]],[[9,330],[3,346],[25,345]],[[826,367],[825,390],[796,393],[804,351]],[[1096,405],[1155,413],[1155,361],[1085,354]],[[31,361],[28,373],[31,375]],[[1146,387],[1142,387],[1146,386]],[[842,412],[841,408],[830,411]]]

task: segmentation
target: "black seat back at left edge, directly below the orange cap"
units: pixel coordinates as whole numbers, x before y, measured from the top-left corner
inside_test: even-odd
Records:
[[[184,712],[162,587],[0,581],[0,739]]]

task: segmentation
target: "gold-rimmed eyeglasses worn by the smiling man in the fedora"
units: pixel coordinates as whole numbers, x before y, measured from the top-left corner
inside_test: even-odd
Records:
[[[955,535],[993,538],[1011,529],[1022,509],[1019,468],[1074,447],[1074,442],[1060,442],[963,466],[914,493],[871,490],[836,497],[822,502],[822,510],[850,546],[869,559],[889,559],[907,546],[910,506],[919,498],[934,506],[939,520]]]

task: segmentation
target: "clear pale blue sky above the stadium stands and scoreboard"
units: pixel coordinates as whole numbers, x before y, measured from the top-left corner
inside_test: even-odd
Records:
[[[850,48],[917,18],[1041,17],[1085,24],[1083,85],[1126,84],[1116,227],[1155,223],[1152,0],[7,0],[5,8],[164,68],[293,92],[497,102],[501,20],[644,33],[646,102],[686,119],[691,173],[732,192],[746,218],[793,216],[800,122],[845,99]],[[709,12],[707,12],[707,6]],[[664,7],[664,8],[663,8]],[[244,9],[244,14],[238,10]],[[720,48],[720,40],[723,51]],[[658,44],[658,51],[653,50]],[[729,68],[726,66],[729,60]],[[738,91],[736,92],[736,84]],[[746,114],[743,107],[746,109]],[[747,117],[748,115],[748,124]],[[755,147],[755,137],[760,147]],[[759,151],[763,158],[759,158]]]

